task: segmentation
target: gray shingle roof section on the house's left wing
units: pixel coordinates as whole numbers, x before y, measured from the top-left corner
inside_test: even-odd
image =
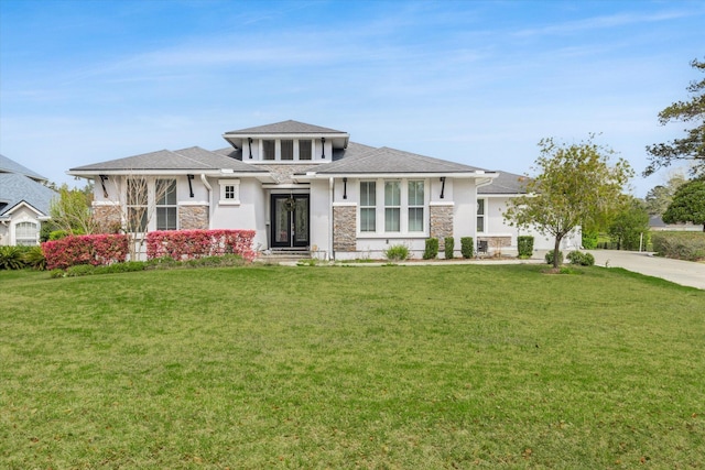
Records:
[[[98,173],[132,170],[209,171],[223,168],[229,168],[238,173],[261,173],[261,170],[252,167],[251,165],[198,146],[177,151],[160,150],[158,152],[143,153],[141,155],[78,166],[70,168],[69,172]]]

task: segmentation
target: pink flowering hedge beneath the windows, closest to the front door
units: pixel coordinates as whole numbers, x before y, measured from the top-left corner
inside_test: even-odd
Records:
[[[193,260],[234,253],[252,261],[254,230],[163,230],[147,234],[147,259]]]

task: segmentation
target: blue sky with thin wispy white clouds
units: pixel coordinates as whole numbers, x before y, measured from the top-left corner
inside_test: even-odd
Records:
[[[640,173],[705,58],[703,1],[0,0],[0,153],[74,166],[294,119],[488,170],[601,133]],[[638,196],[668,172],[632,181]]]

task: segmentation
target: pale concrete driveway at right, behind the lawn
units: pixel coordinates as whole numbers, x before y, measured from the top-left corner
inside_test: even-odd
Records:
[[[705,263],[670,260],[637,251],[589,250],[589,253],[595,256],[597,266],[623,267],[634,273],[705,289]]]

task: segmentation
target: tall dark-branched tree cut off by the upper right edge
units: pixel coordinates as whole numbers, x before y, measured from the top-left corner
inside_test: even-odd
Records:
[[[705,72],[705,61],[695,59],[691,66]],[[686,129],[682,139],[647,146],[650,156],[649,166],[643,172],[644,176],[676,161],[692,161],[693,173],[705,174],[705,78],[692,81],[687,91],[691,99],[674,102],[665,108],[659,113],[659,122],[662,125],[671,121],[693,122],[693,129]]]

